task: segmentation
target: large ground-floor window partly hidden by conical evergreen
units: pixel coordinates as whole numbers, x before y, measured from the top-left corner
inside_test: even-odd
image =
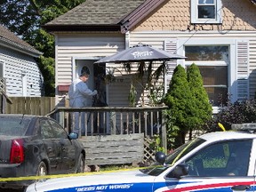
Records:
[[[228,45],[185,46],[186,67],[195,63],[212,106],[223,106],[228,99]]]

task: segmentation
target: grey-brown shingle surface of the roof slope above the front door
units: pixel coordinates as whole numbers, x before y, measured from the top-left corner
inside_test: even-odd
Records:
[[[86,0],[74,9],[45,24],[116,25],[124,16],[146,0]]]

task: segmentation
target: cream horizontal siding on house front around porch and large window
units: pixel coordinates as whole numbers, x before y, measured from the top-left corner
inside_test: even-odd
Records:
[[[129,44],[130,46],[143,43],[150,44],[156,48],[164,49],[164,40],[171,38],[212,38],[219,39],[224,36],[219,31],[196,31],[180,32],[180,31],[142,31],[142,32],[130,32]],[[249,39],[250,40],[250,96],[254,95],[256,85],[256,75],[254,74],[254,68],[256,68],[256,34],[250,31],[229,31],[225,34],[225,38],[236,39]],[[58,60],[56,66],[58,67],[58,76],[56,77],[56,85],[58,84],[70,84],[72,77],[71,62],[72,58],[86,58],[86,57],[104,57],[112,55],[116,52],[124,50],[124,35],[119,34],[68,34],[58,35],[58,41],[56,44],[56,50],[58,52]],[[183,54],[183,45],[177,44],[178,53]],[[178,60],[178,64],[182,64],[182,60]],[[120,71],[115,70],[115,75],[120,76],[120,72],[125,74],[124,68],[121,66],[109,65],[114,68],[118,68]],[[254,72],[254,73],[253,73]],[[108,105],[109,106],[125,106],[128,105],[128,93],[130,90],[130,83],[115,83],[108,85]],[[254,86],[253,86],[254,85]],[[122,91],[120,91],[120,88]],[[124,89],[124,90],[123,90]],[[61,99],[62,95],[57,95]],[[114,101],[115,100],[115,101]]]

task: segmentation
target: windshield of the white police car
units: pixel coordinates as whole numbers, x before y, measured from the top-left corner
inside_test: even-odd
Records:
[[[180,158],[182,158],[183,156],[186,156],[191,150],[198,147],[204,142],[205,140],[200,138],[190,140],[187,143],[181,145],[179,148],[176,148],[171,154],[169,154],[166,157],[166,161],[165,161],[166,166],[163,166],[156,162],[154,164],[151,164],[148,168],[141,169],[140,171],[148,175],[157,176],[162,172],[164,172],[166,169],[168,169],[168,167],[172,166],[177,161],[179,161]]]

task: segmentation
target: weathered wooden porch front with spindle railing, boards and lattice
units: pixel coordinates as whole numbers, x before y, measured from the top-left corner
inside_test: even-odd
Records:
[[[154,158],[155,151],[149,147],[148,140],[155,135],[161,139],[159,147],[167,151],[165,109],[167,107],[60,107],[49,116],[70,132],[75,128],[74,114],[78,114],[79,140],[86,150],[87,165],[137,164]]]

